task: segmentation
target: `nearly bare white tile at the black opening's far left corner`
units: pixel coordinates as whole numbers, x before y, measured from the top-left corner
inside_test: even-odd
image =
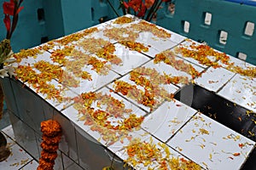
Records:
[[[219,88],[222,88],[234,76],[234,72],[224,68],[214,69],[211,67],[201,77],[195,78],[195,83],[210,91],[217,92]]]

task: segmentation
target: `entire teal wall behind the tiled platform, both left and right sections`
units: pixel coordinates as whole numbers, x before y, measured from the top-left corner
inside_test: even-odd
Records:
[[[110,0],[115,8],[118,0]],[[173,0],[172,0],[173,1]],[[3,0],[0,0],[1,6]],[[24,0],[24,9],[11,39],[15,52],[20,48],[32,48],[47,40],[55,39],[99,24],[99,19],[116,17],[107,0]],[[44,11],[43,16],[39,11]],[[205,13],[212,14],[212,23],[203,23]],[[119,10],[119,14],[122,11]],[[227,54],[247,54],[247,62],[256,65],[256,34],[244,35],[247,21],[256,23],[256,7],[224,0],[176,0],[175,14],[168,14],[167,3],[158,12],[156,24],[186,37],[207,42]],[[0,38],[5,37],[3,8],[0,8]],[[189,32],[183,31],[188,21]],[[1,22],[0,22],[1,23]],[[219,43],[219,31],[228,32],[226,44]]]

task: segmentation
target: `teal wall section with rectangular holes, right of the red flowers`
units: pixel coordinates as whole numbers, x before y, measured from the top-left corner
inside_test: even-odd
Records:
[[[248,21],[256,24],[256,7],[221,0],[176,0],[175,8],[175,14],[165,14],[157,24],[226,54],[247,54],[247,62],[256,65],[256,33],[244,34]],[[210,26],[204,23],[206,12],[212,14]],[[183,31],[183,21],[190,24],[188,33]],[[219,42],[220,31],[228,33],[226,44]]]

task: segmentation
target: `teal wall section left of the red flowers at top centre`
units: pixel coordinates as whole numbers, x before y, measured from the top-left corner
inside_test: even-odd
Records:
[[[0,0],[0,40],[6,36],[3,2]],[[24,0],[21,6],[24,8],[20,11],[18,25],[11,37],[15,52],[95,26],[102,17],[109,20],[110,12],[106,2],[96,0],[76,0],[75,3],[71,0]],[[38,14],[38,11],[41,13]]]

